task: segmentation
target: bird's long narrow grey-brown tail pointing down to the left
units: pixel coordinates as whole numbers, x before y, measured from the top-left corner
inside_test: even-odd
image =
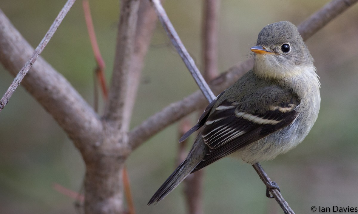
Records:
[[[174,170],[168,179],[161,185],[161,187],[154,193],[153,197],[149,200],[148,205],[153,203],[157,204],[166,195],[168,195],[176,186],[182,182],[190,172],[202,161],[203,156],[206,154],[207,148],[202,142],[201,134],[198,134],[197,139],[194,141],[193,148],[190,150],[188,157]]]

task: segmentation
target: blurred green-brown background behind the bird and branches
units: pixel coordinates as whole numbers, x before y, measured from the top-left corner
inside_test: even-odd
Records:
[[[66,1],[1,0],[0,8],[36,47]],[[221,1],[219,71],[250,57],[263,26],[289,20],[298,25],[329,1]],[[106,77],[115,51],[119,1],[90,1]],[[197,65],[200,60],[202,1],[171,0],[164,7]],[[321,110],[303,143],[262,163],[296,213],[311,206],[358,207],[358,5],[311,37],[306,44],[321,81]],[[77,1],[42,56],[93,105],[95,60]],[[13,77],[0,65],[0,93]],[[132,127],[171,102],[197,90],[175,49],[157,25],[142,72]],[[103,109],[103,103],[100,105]],[[198,113],[191,115],[196,121]],[[0,114],[0,213],[76,213],[75,200],[54,184],[81,191],[84,163],[54,119],[19,87]],[[127,161],[137,213],[186,213],[179,185],[158,205],[146,204],[175,166],[178,123],[144,143]],[[251,165],[225,158],[205,169],[204,212],[283,213],[265,197],[265,185]]]

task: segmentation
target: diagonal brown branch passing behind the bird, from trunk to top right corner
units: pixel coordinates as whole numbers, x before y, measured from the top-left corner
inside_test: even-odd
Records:
[[[305,40],[309,39],[310,36],[328,24],[329,21],[332,21],[335,17],[342,14],[349,6],[352,6],[357,1],[358,0],[333,0],[329,2],[322,9],[310,16],[309,19],[298,25],[301,35],[303,35]],[[325,21],[320,22],[319,20],[321,19]],[[321,24],[318,25],[317,23]],[[215,93],[220,93],[236,82],[236,80],[249,71],[252,66],[252,58],[240,62],[222,73],[222,75],[213,80],[209,86]],[[199,91],[192,93],[181,101],[171,103],[131,130],[129,137],[132,149],[136,149],[140,144],[154,136],[154,134],[200,107],[203,107],[205,104],[207,104],[207,101]]]

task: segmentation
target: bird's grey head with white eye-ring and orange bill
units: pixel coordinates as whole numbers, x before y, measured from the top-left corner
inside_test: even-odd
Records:
[[[265,78],[284,78],[314,69],[313,58],[297,27],[289,21],[265,26],[258,34],[253,71]]]

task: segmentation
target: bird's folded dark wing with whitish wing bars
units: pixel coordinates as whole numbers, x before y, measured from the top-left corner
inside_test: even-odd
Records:
[[[266,111],[222,101],[205,121],[202,138],[209,152],[192,172],[291,124],[300,102],[295,96],[278,98],[279,102],[266,103]]]

